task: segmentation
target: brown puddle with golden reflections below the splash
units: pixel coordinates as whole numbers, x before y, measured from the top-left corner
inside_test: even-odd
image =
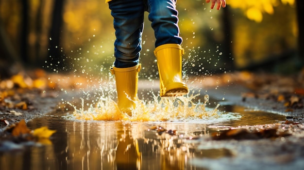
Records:
[[[218,118],[164,122],[81,121],[67,119],[67,113],[51,113],[28,126],[56,130],[52,145],[0,153],[0,169],[205,170],[200,160],[234,156],[234,151],[225,147],[202,148],[211,131],[285,120],[282,115],[238,106],[220,106],[219,110],[225,111]],[[157,133],[156,127],[174,135]]]

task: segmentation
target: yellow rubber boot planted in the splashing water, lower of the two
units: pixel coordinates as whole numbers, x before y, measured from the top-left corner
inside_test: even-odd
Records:
[[[131,116],[131,110],[135,108],[134,101],[137,100],[138,72],[141,64],[128,68],[110,68],[115,75],[118,108]]]

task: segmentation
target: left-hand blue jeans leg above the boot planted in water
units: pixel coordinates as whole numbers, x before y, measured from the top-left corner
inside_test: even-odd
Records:
[[[138,64],[143,31],[143,0],[112,0],[109,2],[114,17],[115,67],[126,68]]]

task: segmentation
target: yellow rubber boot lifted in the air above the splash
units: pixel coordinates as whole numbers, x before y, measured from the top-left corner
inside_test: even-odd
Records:
[[[154,50],[160,79],[160,96],[180,96],[188,93],[182,81],[182,55],[184,49],[178,44],[157,46]]]

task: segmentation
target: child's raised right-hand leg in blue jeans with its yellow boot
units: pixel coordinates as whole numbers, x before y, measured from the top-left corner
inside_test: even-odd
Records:
[[[182,81],[182,55],[176,0],[148,0],[149,20],[155,33],[155,51],[160,80],[160,96],[180,96],[188,93]]]

